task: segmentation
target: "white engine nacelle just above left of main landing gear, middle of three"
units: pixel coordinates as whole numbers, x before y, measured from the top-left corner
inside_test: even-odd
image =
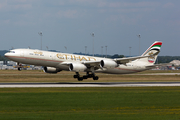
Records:
[[[81,63],[72,63],[69,66],[69,70],[75,71],[75,72],[84,72],[86,69],[87,69],[87,67]]]

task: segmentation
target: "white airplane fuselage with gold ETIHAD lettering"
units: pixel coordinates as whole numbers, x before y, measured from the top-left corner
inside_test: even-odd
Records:
[[[94,56],[49,52],[33,49],[15,49],[9,53],[6,53],[5,56],[10,60],[18,63],[54,67],[65,71],[69,71],[69,66],[64,65],[63,63],[83,63],[87,61],[112,60]],[[115,68],[102,68],[95,70],[95,72],[126,74],[144,70],[147,70],[145,65],[138,64],[138,60],[135,60],[127,63],[126,65],[120,64]]]

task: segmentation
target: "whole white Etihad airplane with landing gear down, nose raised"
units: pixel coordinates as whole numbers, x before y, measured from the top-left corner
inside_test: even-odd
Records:
[[[36,49],[13,49],[5,53],[9,60],[17,62],[18,70],[21,64],[43,66],[46,73],[58,73],[62,70],[73,71],[74,78],[79,81],[93,78],[95,73],[127,74],[136,73],[156,67],[155,61],[160,52],[162,42],[155,41],[141,56],[127,58],[102,58],[59,52],[49,52]],[[79,72],[86,72],[80,76]]]

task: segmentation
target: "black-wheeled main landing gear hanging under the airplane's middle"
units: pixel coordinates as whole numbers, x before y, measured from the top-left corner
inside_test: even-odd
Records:
[[[93,78],[93,80],[98,80],[99,77],[95,76],[94,73],[89,74],[89,72],[87,72],[87,75],[84,75],[83,77],[80,77],[79,72],[76,72],[76,75],[74,75],[74,78],[77,78],[78,81],[83,81],[83,79],[88,79],[88,78]]]

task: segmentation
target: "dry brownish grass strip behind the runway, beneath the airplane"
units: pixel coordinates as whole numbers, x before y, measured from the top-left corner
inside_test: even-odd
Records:
[[[114,75],[97,74],[98,81],[92,79],[83,82],[167,82],[180,81],[179,75],[143,75],[148,73],[179,73],[180,71],[144,71],[137,74]],[[47,74],[39,70],[1,70],[0,82],[78,82],[73,78],[74,72],[59,72],[58,74]],[[81,73],[83,75],[83,73]]]

